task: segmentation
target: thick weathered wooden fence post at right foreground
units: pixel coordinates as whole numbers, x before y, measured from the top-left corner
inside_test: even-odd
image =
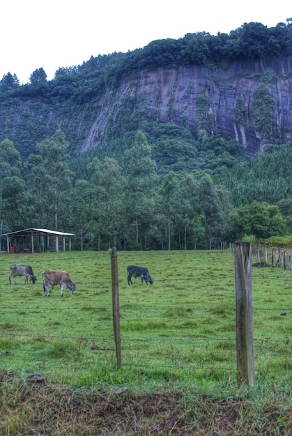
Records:
[[[252,244],[236,242],[236,342],[238,383],[254,384],[254,327],[252,316]]]

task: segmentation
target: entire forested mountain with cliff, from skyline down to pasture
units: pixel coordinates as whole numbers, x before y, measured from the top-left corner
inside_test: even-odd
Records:
[[[213,248],[291,233],[290,22],[154,41],[60,68],[52,81],[40,68],[20,86],[9,72],[1,233],[70,231],[75,249]]]

